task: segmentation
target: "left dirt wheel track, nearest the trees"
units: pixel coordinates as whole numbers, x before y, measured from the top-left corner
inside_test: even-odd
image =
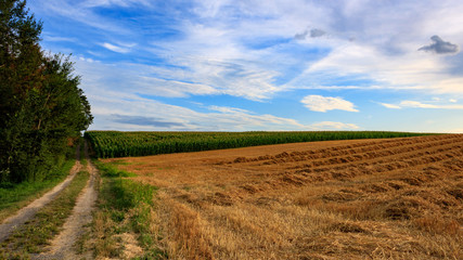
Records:
[[[77,172],[81,169],[80,164],[80,146],[77,147],[76,151],[76,164],[70,169],[69,176],[60,184],[57,184],[53,190],[46,193],[40,198],[34,200],[28,206],[22,208],[17,211],[16,214],[5,219],[3,223],[0,224],[0,243],[3,242],[10,234],[12,234],[18,226],[24,224],[26,221],[30,220],[39,209],[49,204],[54,197],[63,191],[67,185],[69,185],[70,181],[74,179]]]

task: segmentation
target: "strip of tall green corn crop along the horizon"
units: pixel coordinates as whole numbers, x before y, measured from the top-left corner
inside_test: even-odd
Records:
[[[117,132],[88,131],[97,157],[144,156],[267,144],[424,135],[410,132]]]

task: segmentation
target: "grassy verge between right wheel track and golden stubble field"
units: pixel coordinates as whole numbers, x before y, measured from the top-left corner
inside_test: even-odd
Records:
[[[102,182],[93,218],[97,258],[164,259],[157,246],[156,187],[124,178],[132,173],[95,161]]]

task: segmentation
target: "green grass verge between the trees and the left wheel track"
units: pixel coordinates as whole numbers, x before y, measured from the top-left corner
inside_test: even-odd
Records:
[[[66,160],[42,182],[0,183],[0,222],[62,182],[69,174],[75,161]]]

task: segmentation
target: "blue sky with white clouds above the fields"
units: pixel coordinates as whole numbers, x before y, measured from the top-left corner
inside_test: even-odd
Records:
[[[31,0],[90,130],[463,132],[463,1]]]

